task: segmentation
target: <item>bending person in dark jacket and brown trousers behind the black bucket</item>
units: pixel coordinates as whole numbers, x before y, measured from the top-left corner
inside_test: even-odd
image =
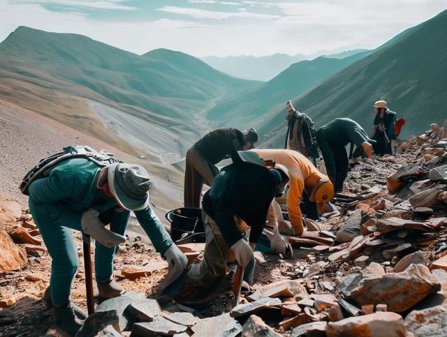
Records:
[[[253,149],[258,142],[256,130],[241,132],[236,128],[219,128],[198,140],[186,152],[184,172],[184,207],[200,207],[203,184],[212,185],[219,173],[216,164],[230,158],[237,150]]]

